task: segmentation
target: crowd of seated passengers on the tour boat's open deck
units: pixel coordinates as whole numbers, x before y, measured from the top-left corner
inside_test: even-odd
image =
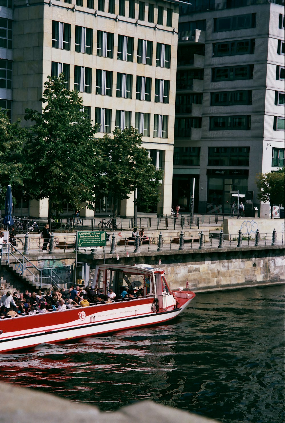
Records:
[[[99,303],[110,303],[115,300],[127,300],[143,297],[143,288],[134,291],[132,287],[124,287],[120,294],[116,294],[112,288],[107,295],[102,289],[82,288],[71,286],[68,290],[54,287],[52,291],[29,292],[13,295],[7,291],[0,298],[0,319],[14,318],[20,316],[31,316],[38,313],[48,313],[52,311],[65,311],[74,307],[88,307]]]

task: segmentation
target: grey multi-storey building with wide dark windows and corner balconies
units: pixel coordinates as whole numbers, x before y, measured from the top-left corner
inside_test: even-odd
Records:
[[[284,166],[284,1],[181,5],[173,203],[228,213],[239,191],[248,216],[269,204],[255,176]]]

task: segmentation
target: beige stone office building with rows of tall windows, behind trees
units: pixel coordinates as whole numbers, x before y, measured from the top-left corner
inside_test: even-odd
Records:
[[[5,57],[0,49],[6,72],[0,98],[8,101],[12,121],[27,107],[41,110],[48,75],[64,72],[100,124],[98,137],[115,126],[132,125],[143,134],[153,164],[164,169],[157,212],[170,213],[179,2],[14,0],[12,9],[9,1],[0,6],[7,28],[13,21],[13,45]],[[44,217],[47,200],[19,204],[18,212]],[[96,202],[96,214],[111,212],[112,198]],[[132,214],[133,198],[122,201],[121,215]]]

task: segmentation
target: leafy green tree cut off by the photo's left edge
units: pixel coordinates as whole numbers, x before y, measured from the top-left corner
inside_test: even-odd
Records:
[[[4,208],[9,184],[12,195],[24,187],[24,178],[28,176],[30,166],[25,163],[22,151],[29,137],[29,132],[20,126],[19,121],[11,124],[6,113],[0,110],[0,209]]]

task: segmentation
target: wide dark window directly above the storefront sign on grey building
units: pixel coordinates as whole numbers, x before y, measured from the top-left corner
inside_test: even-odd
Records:
[[[249,147],[208,147],[208,166],[249,166]]]

